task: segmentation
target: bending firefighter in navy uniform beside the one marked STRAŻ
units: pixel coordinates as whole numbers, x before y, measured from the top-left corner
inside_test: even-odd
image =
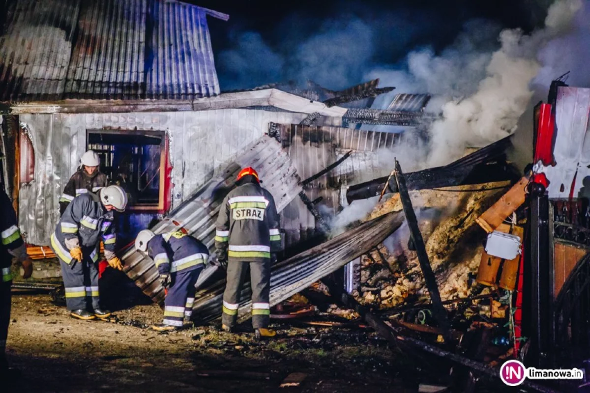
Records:
[[[192,236],[180,231],[155,235],[151,230],[139,232],[135,248],[153,259],[160,283],[168,289],[164,301],[164,320],[152,326],[155,331],[171,331],[189,322],[195,302],[195,283],[207,262],[209,250]]]

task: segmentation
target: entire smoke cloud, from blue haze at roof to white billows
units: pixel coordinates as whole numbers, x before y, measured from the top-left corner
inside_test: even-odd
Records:
[[[399,153],[392,152],[404,158],[403,152],[419,151],[406,153],[405,163],[401,160],[412,169],[450,163],[466,147],[485,146],[514,133],[514,158],[524,166],[532,154],[532,106],[546,99],[550,82],[571,71],[570,84],[590,86],[585,72],[590,61],[589,8],[581,0],[556,0],[544,26],[530,34],[474,19],[442,51],[428,46],[411,50],[419,34],[432,37],[441,28],[430,23],[432,15],[414,21],[425,29],[422,33],[408,22],[408,15],[375,16],[371,23],[356,14],[340,15],[319,23],[309,36],[287,34],[288,48],[273,47],[255,33],[238,35],[236,47],[223,52],[220,60],[231,71],[229,84],[242,87],[310,79],[337,89],[380,78],[381,86],[396,90],[379,97],[375,108],[385,107],[398,93],[432,94],[427,111],[442,117],[428,129],[430,146],[405,143]],[[384,34],[396,45],[384,47]],[[409,53],[398,62],[380,62],[384,48],[395,51],[394,46]]]

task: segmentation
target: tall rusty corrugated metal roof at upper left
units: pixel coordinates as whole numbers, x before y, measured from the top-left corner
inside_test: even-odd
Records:
[[[219,14],[170,0],[8,4],[0,101],[219,94],[206,18]]]

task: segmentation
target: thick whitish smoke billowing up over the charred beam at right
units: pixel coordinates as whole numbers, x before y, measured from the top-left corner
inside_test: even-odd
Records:
[[[545,28],[529,35],[505,29],[496,51],[478,50],[471,27],[439,57],[430,49],[409,54],[408,72],[376,70],[367,77],[381,77],[383,85],[401,84],[414,93],[439,94],[428,107],[442,118],[430,127],[425,167],[448,164],[468,146],[485,146],[513,134],[519,118],[536,104],[533,96],[546,97],[550,81],[564,72],[576,72],[576,85],[588,85],[588,9],[581,0],[558,0],[548,10]],[[522,131],[530,133],[532,127],[526,128]],[[530,142],[525,145],[532,151]]]

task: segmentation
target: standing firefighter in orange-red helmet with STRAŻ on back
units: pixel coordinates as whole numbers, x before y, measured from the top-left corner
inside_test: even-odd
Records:
[[[235,325],[242,283],[250,267],[252,326],[257,337],[272,337],[276,332],[268,329],[271,253],[281,246],[277,208],[253,168],[242,169],[237,184],[221,205],[215,231],[218,261],[227,264],[222,328],[231,332]]]

